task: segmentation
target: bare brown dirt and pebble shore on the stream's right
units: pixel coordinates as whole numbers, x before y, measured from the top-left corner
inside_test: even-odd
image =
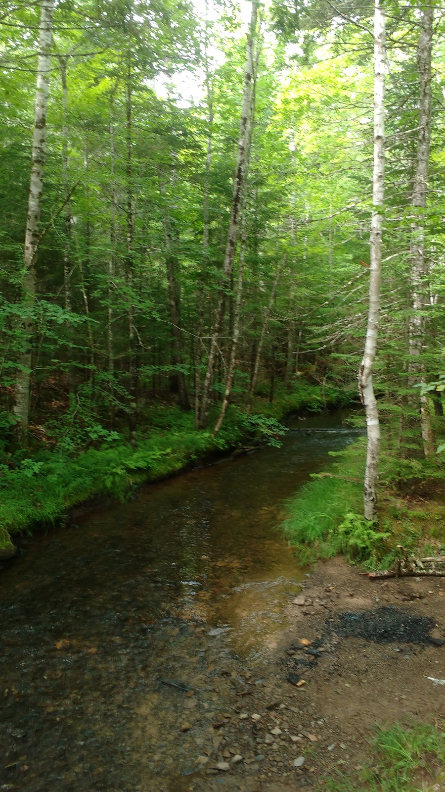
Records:
[[[445,676],[445,581],[371,581],[333,558],[318,563],[288,611],[291,628],[265,671],[232,664],[215,679],[220,688],[238,677],[242,687],[213,725],[202,780],[178,789],[445,790],[445,687],[429,679]],[[376,727],[394,724],[408,731],[398,742],[397,727],[390,733],[386,767]],[[424,724],[437,729],[426,756]],[[417,733],[408,757],[409,729]]]

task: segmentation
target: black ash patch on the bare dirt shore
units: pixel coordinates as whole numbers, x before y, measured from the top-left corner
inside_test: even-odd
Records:
[[[348,611],[333,622],[333,629],[344,638],[365,638],[378,643],[412,643],[442,646],[445,641],[432,638],[430,631],[435,620],[426,616],[413,616],[394,605],[378,607],[373,611]]]

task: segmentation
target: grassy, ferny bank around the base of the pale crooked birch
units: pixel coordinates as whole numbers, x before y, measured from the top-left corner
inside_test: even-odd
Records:
[[[333,454],[325,474],[299,489],[285,507],[284,534],[300,560],[344,554],[369,569],[386,569],[402,546],[417,557],[445,547],[445,498],[439,469],[424,465],[415,481],[401,478],[400,464],[382,447],[378,526],[363,519],[366,439]],[[432,465],[432,463],[430,463]]]

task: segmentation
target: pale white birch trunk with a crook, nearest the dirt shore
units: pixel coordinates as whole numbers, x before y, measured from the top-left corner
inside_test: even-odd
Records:
[[[367,459],[363,485],[366,520],[377,519],[378,454],[380,425],[372,375],[377,349],[382,272],[382,225],[385,190],[385,17],[381,0],[375,0],[374,15],[374,172],[372,180],[371,272],[367,333],[359,367],[359,393],[366,410]]]

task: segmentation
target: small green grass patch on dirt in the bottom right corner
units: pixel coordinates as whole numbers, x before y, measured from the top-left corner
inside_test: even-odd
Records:
[[[400,724],[378,729],[371,760],[355,779],[340,776],[323,785],[332,792],[432,792],[445,783],[443,724]],[[340,774],[339,774],[340,775]]]

